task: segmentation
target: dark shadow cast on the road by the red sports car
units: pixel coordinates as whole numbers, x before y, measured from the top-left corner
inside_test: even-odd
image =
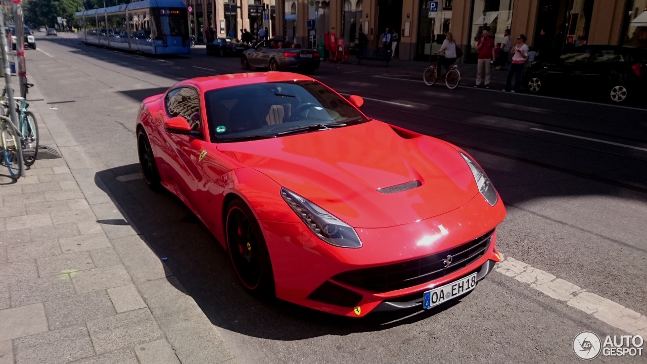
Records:
[[[432,310],[371,313],[355,319],[279,299],[259,301],[239,284],[223,246],[178,198],[170,192],[149,190],[142,179],[126,182],[116,179],[139,171],[139,165],[120,166],[98,172],[95,181],[107,188],[106,192],[126,212],[127,222],[140,232],[151,250],[159,258],[166,258],[171,273],[218,327],[275,340],[343,336],[414,323],[461,302],[450,301]]]

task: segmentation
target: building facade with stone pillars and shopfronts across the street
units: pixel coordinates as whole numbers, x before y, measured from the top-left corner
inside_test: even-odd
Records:
[[[360,32],[367,48],[378,49],[386,28],[400,36],[402,60],[426,60],[452,32],[464,62],[475,58],[476,41],[487,29],[495,42],[510,29],[535,47],[608,44],[647,47],[647,0],[187,0],[192,28],[204,25],[218,36],[247,28],[311,47],[334,34],[356,47]],[[215,14],[215,15],[214,15]],[[543,30],[543,32],[542,32]]]

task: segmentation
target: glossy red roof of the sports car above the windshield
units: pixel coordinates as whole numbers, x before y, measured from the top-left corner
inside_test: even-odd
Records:
[[[263,82],[291,82],[313,81],[314,79],[303,74],[289,72],[263,72],[263,73],[234,73],[219,74],[217,76],[190,78],[179,82],[173,87],[193,85],[202,92],[232,87],[239,85],[261,84]]]

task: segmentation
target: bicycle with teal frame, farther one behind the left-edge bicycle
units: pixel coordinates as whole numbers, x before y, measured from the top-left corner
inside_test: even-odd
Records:
[[[25,84],[25,95],[28,93],[28,88],[33,84]],[[5,97],[6,89],[3,90],[1,106],[4,108],[3,115],[9,117],[9,100]],[[23,161],[26,166],[31,166],[36,162],[38,156],[38,122],[36,116],[31,111],[27,111],[29,104],[25,97],[14,97],[16,101],[16,113],[18,115],[18,126],[21,147],[23,149]]]

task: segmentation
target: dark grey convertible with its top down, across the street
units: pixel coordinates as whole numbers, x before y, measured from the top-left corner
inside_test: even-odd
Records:
[[[264,40],[243,52],[241,67],[305,73],[319,68],[319,52],[314,49],[277,48],[279,42],[280,40]]]

